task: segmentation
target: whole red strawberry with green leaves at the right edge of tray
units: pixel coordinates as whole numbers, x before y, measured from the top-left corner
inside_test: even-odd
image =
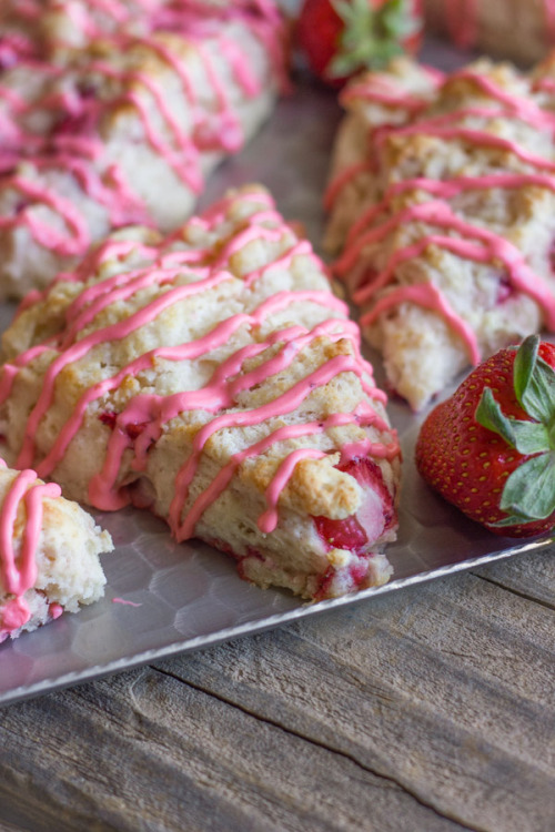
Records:
[[[555,346],[531,335],[476,367],[420,432],[421,475],[496,534],[555,526],[554,368]]]

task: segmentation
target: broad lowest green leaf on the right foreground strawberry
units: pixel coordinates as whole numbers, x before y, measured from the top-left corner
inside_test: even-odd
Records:
[[[527,520],[543,520],[555,511],[555,453],[527,459],[508,477],[500,503]]]

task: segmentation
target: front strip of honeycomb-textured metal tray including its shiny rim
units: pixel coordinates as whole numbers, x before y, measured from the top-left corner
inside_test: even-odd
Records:
[[[109,581],[105,598],[0,646],[0,703],[369,601],[375,595],[553,542],[515,546],[465,521],[418,480],[412,465],[415,434],[416,428],[410,427],[403,436],[401,536],[387,550],[395,574],[385,587],[302,603],[285,592],[242,581],[234,562],[208,546],[175,544],[165,525],[147,513],[99,514],[117,547],[103,559]]]

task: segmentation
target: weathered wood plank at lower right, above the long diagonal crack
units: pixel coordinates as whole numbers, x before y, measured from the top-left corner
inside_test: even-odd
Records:
[[[552,830],[553,622],[462,575],[164,667],[471,828]]]

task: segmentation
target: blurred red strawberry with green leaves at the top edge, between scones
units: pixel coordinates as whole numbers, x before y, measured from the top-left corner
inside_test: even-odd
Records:
[[[296,41],[317,78],[340,85],[415,52],[421,29],[421,0],[304,0]]]

